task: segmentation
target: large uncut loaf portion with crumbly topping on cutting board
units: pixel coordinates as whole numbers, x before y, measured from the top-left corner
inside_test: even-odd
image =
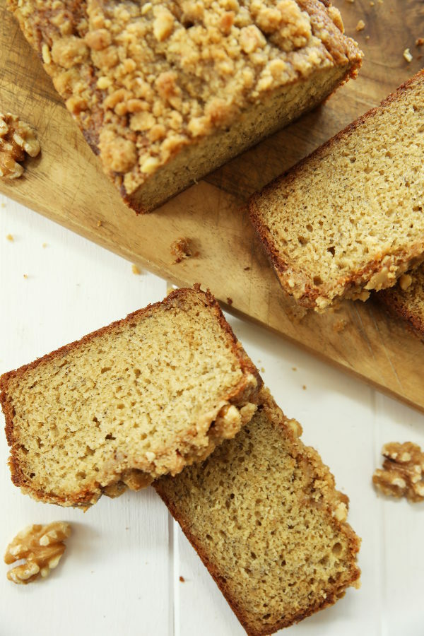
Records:
[[[136,211],[313,108],[362,56],[329,0],[7,4]]]

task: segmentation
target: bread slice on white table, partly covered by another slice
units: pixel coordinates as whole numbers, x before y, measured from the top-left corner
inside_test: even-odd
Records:
[[[252,421],[155,490],[250,636],[271,634],[358,586],[348,497],[261,389]]]

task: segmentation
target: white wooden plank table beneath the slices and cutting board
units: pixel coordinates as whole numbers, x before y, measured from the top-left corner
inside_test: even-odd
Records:
[[[0,373],[165,295],[160,278],[136,276],[123,259],[1,195],[0,203]],[[371,485],[384,442],[424,447],[424,416],[258,326],[229,320],[278,404],[300,420],[303,439],[351,498],[349,519],[363,538],[361,589],[286,633],[424,635],[424,504],[377,497]],[[0,434],[0,550],[31,523],[64,519],[73,536],[40,583],[16,586],[3,566],[0,636],[244,633],[153,489],[102,497],[83,514],[20,494],[7,458]]]

